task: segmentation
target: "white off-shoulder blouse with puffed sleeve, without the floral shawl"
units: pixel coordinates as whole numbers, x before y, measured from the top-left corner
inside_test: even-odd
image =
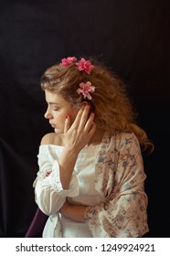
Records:
[[[69,190],[63,190],[59,180],[58,158],[63,147],[54,144],[40,145],[38,157],[39,172],[34,182],[38,207],[48,218],[43,237],[56,237],[58,218],[62,226],[62,237],[92,237],[86,223],[77,222],[56,214],[68,197],[71,204],[95,206],[102,198],[95,190],[95,159],[99,145],[84,147],[77,159]],[[46,176],[47,172],[50,172]],[[55,203],[54,203],[55,202]]]

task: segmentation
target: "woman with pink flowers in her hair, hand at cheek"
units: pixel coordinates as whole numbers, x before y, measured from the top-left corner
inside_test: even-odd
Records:
[[[94,60],[62,59],[41,78],[54,128],[39,146],[37,206],[43,237],[142,237],[148,232],[141,149],[124,84]]]

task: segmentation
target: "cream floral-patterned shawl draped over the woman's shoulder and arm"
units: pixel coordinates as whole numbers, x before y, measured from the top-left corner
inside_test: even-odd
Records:
[[[96,189],[104,203],[85,211],[93,237],[141,237],[148,231],[145,177],[136,136],[107,138],[96,164]]]

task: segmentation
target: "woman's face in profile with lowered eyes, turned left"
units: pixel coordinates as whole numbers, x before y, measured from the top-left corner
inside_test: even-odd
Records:
[[[73,108],[69,101],[66,101],[59,92],[45,91],[48,109],[45,118],[54,128],[55,133],[64,133],[64,123],[69,115],[70,123],[73,123],[80,108]]]

